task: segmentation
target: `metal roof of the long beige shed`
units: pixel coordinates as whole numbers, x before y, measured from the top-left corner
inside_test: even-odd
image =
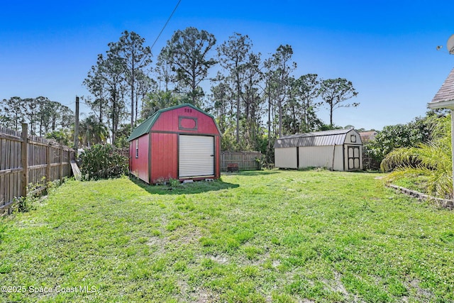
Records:
[[[314,131],[311,133],[297,133],[296,135],[284,136],[275,141],[275,148],[292,148],[294,146],[326,146],[343,145],[345,136],[353,128],[333,129],[331,131]],[[358,133],[355,131],[355,133]]]

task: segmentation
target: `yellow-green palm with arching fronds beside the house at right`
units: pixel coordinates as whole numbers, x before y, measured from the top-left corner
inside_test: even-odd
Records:
[[[387,180],[409,176],[424,176],[430,194],[453,197],[453,168],[451,158],[450,116],[438,119],[430,143],[416,147],[397,148],[380,165],[383,171],[394,169]]]

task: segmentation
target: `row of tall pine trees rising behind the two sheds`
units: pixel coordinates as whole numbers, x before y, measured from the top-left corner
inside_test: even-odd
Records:
[[[87,104],[94,122],[109,129],[114,144],[127,120],[131,131],[159,109],[191,103],[214,114],[224,150],[266,152],[278,136],[334,128],[333,111],[358,106],[348,103],[358,94],[352,82],[315,74],[297,77],[292,46],[279,45],[263,58],[240,33],[217,43],[208,31],[175,31],[154,65],[137,33],[124,31],[108,47],[84,85],[92,94]],[[317,116],[323,104],[330,111],[328,124]]]

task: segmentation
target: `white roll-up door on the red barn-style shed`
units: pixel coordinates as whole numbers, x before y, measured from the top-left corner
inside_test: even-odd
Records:
[[[179,135],[179,177],[214,175],[214,137]]]

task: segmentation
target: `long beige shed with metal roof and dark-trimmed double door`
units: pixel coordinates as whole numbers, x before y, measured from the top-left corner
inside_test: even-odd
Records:
[[[275,167],[362,170],[361,136],[350,128],[281,137],[275,141]]]

